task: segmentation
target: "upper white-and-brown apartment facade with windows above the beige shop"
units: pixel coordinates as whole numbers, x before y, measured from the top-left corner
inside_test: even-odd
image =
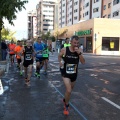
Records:
[[[92,18],[120,18],[120,0],[59,0],[59,27]]]

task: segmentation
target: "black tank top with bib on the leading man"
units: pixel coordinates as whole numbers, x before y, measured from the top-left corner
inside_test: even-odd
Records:
[[[64,58],[64,70],[67,75],[77,75],[79,55],[76,52],[71,52],[69,47],[66,47],[66,55]]]

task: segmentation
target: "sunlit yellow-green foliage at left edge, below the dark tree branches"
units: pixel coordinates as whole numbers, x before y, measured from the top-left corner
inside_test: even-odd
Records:
[[[4,40],[12,40],[16,32],[10,31],[8,28],[3,28],[1,31],[1,37]]]

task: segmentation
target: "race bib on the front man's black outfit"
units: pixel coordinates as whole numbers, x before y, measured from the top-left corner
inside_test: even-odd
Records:
[[[77,65],[76,64],[66,64],[66,73],[74,74],[76,73]]]

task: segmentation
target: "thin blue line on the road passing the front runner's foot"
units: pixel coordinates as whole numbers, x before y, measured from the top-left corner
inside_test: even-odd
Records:
[[[50,82],[50,81],[49,81]],[[50,84],[52,85],[52,87],[54,87],[54,89],[62,96],[64,97],[64,95],[50,82]],[[72,106],[72,108],[83,118],[83,120],[87,120],[87,118],[71,103],[69,102],[69,104]]]

